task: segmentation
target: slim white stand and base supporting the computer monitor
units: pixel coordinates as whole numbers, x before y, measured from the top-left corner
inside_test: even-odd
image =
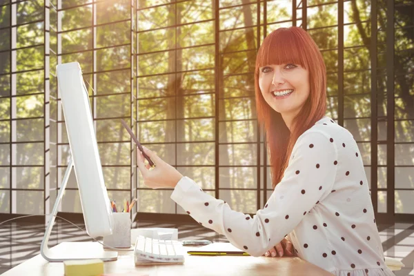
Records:
[[[55,206],[53,206],[48,228],[46,228],[45,235],[41,241],[40,253],[42,257],[49,262],[63,262],[74,259],[101,259],[102,261],[115,261],[118,258],[118,253],[115,251],[103,250],[103,246],[99,244],[99,242],[61,242],[53,248],[48,248],[50,233],[52,232],[52,227],[55,222],[55,215],[57,215],[57,209],[63,197],[63,191],[66,188],[66,184],[68,184],[70,171],[73,166],[72,158],[70,158],[61,188],[57,194]]]

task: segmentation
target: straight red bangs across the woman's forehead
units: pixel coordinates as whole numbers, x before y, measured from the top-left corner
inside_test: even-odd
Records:
[[[257,69],[270,64],[295,63],[307,69],[304,43],[288,28],[271,32],[263,41],[257,57]]]

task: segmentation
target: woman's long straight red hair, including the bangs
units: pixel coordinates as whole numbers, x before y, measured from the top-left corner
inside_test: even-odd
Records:
[[[295,63],[309,72],[309,97],[292,121],[290,130],[282,115],[264,100],[259,88],[259,68],[270,64]],[[267,92],[267,91],[266,91]],[[279,28],[271,32],[257,52],[255,67],[257,119],[266,130],[272,186],[282,180],[297,138],[326,112],[326,68],[319,48],[302,28]]]

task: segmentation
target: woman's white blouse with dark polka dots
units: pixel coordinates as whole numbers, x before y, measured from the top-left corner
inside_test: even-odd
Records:
[[[357,143],[329,117],[297,139],[282,181],[253,218],[188,177],[171,199],[252,256],[264,255],[287,235],[298,257],[334,275],[394,275],[384,262]]]

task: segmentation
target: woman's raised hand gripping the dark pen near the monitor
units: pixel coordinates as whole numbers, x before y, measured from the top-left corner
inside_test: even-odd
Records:
[[[144,185],[157,189],[157,188],[175,188],[178,181],[183,177],[178,170],[164,162],[161,158],[158,157],[155,152],[144,148],[144,152],[152,161],[154,161],[155,168],[151,168],[149,164],[145,164],[146,159],[142,155],[141,151],[138,150],[137,164],[138,168],[141,171],[142,177],[144,179]],[[148,162],[148,161],[147,161]]]

